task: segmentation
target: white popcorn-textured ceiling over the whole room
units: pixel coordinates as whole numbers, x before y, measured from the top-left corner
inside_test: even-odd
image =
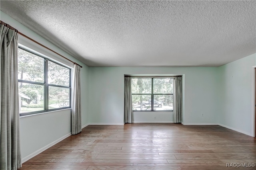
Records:
[[[256,53],[256,1],[0,1],[88,66],[220,66]]]

